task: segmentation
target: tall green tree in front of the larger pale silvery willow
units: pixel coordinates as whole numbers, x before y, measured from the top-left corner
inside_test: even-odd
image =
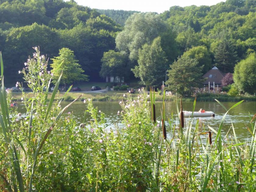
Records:
[[[147,88],[158,86],[165,80],[167,61],[161,47],[161,37],[157,37],[151,45],[144,44],[139,50],[138,65],[132,71]]]

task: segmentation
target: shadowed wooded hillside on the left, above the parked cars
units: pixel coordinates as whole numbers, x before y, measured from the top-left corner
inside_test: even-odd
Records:
[[[0,51],[7,83],[21,80],[18,71],[35,46],[50,58],[57,56],[63,47],[73,50],[85,74],[95,80],[103,53],[115,48],[116,32],[121,30],[109,17],[72,0],[0,0],[0,3]]]

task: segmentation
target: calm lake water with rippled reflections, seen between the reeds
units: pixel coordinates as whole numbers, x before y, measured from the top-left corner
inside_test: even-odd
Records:
[[[70,102],[63,101],[62,107],[68,105]],[[222,102],[222,104],[229,109],[232,107],[236,102]],[[98,110],[105,113],[105,118],[107,122],[107,127],[114,127],[114,124],[118,123],[119,126],[122,126],[121,121],[122,117],[117,115],[118,111],[122,111],[119,102],[93,102],[94,107],[98,107]],[[180,106],[180,105],[179,105]],[[162,102],[156,103],[156,113],[157,113],[157,120],[160,120],[160,108],[162,107]],[[186,111],[192,111],[193,102],[183,102],[183,108]],[[219,124],[222,120],[223,115],[226,113],[225,109],[219,105],[217,102],[197,102],[195,111],[198,111],[200,108],[204,109],[205,111],[213,111],[215,113],[215,117],[199,117],[199,129],[201,132],[204,132],[203,126],[205,127],[205,131],[209,131],[208,125],[218,130]],[[20,112],[25,112],[22,103],[18,105],[18,110]],[[90,120],[90,116],[86,115],[84,119],[84,111],[86,110],[86,104],[83,101],[76,101],[71,105],[66,112],[72,112],[73,115],[76,117],[78,123],[82,123],[84,120],[85,122]],[[176,103],[175,102],[165,102],[165,111],[166,111],[166,119],[169,117],[171,118],[171,113],[173,112],[174,118],[176,119]],[[225,122],[223,124],[222,133],[223,136],[226,134],[231,126],[231,121],[233,122],[236,136],[240,139],[240,141],[244,141],[247,138],[251,139],[251,135],[247,130],[247,127],[251,128],[250,119],[249,119],[249,112],[251,117],[256,113],[256,102],[243,102],[240,105],[236,106],[235,108],[231,109],[230,116],[227,115]],[[188,118],[186,118],[186,121]],[[196,123],[197,118],[193,118],[193,122]],[[255,121],[254,121],[255,122]],[[167,126],[167,132],[168,128]],[[232,131],[232,130],[230,130]],[[233,133],[233,132],[232,132]],[[231,133],[229,133],[231,134]]]

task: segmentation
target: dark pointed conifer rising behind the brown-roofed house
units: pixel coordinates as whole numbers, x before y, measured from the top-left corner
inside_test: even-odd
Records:
[[[217,50],[214,54],[215,66],[218,67],[224,73],[232,73],[234,66],[237,63],[237,54],[233,44],[224,39],[220,42]]]

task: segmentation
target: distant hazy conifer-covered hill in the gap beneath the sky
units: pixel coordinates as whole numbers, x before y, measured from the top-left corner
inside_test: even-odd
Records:
[[[96,9],[102,15],[111,17],[116,23],[124,26],[125,21],[133,13],[138,13],[139,11],[124,11],[124,10],[114,10],[114,9]]]

